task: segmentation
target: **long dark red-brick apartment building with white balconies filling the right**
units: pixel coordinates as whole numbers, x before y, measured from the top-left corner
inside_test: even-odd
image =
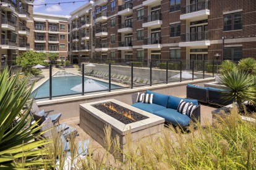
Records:
[[[88,6],[93,18],[88,57],[211,60],[220,54],[219,59],[256,58],[254,1],[96,0]],[[72,51],[72,56],[79,55]]]

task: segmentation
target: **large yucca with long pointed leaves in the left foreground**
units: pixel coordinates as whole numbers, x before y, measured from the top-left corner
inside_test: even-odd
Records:
[[[38,169],[46,163],[43,157],[48,153],[42,146],[49,141],[40,139],[37,123],[30,124],[33,86],[27,87],[26,80],[17,83],[18,78],[19,74],[9,76],[7,68],[0,72],[0,169]]]

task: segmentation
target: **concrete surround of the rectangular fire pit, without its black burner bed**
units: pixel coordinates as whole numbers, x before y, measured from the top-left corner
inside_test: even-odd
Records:
[[[116,103],[121,107],[128,108],[129,110],[147,116],[148,118],[129,124],[121,123],[121,121],[118,121],[93,107],[93,105],[105,102]],[[115,99],[80,104],[80,127],[103,147],[105,146],[105,125],[111,126],[111,136],[113,138],[116,137],[116,135],[119,136],[122,148],[126,145],[126,134],[129,130],[132,134],[132,141],[137,141],[143,137],[160,132],[164,127],[164,118],[140,110],[139,108],[132,107],[126,103],[119,102]]]

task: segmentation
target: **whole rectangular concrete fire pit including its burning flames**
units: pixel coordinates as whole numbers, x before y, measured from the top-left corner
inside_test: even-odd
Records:
[[[111,136],[119,136],[121,147],[126,145],[126,134],[132,141],[156,134],[164,127],[164,118],[109,99],[80,105],[80,127],[104,147],[104,127],[111,126]]]

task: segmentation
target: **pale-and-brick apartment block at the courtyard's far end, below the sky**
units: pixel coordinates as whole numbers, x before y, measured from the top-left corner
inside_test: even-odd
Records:
[[[68,25],[66,16],[33,13],[33,32],[30,48],[36,52],[56,52],[58,60],[66,60],[68,52]]]

